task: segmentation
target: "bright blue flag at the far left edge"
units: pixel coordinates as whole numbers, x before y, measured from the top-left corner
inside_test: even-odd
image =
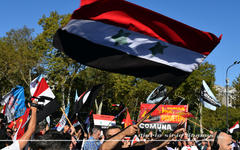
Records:
[[[1,104],[4,105],[3,114],[7,117],[8,122],[21,117],[26,110],[24,88],[17,85],[3,97]]]

